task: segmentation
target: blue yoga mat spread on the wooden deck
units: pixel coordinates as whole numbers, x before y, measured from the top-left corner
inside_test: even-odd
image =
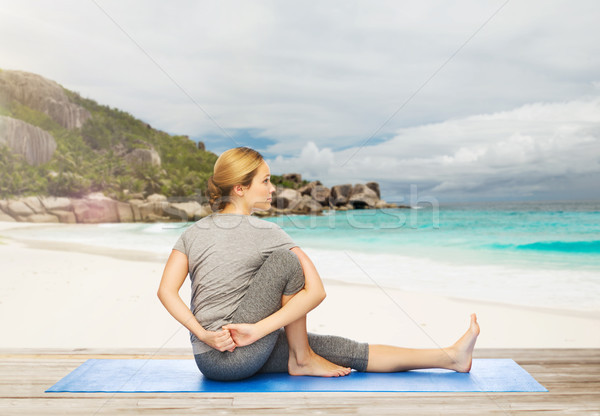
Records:
[[[470,373],[413,370],[323,378],[257,374],[242,381],[212,381],[194,360],[91,359],[46,390],[72,393],[204,392],[516,392],[548,391],[510,359],[475,359]]]

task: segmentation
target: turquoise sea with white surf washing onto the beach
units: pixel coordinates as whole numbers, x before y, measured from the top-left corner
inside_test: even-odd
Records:
[[[305,249],[324,279],[600,313],[600,201],[427,204],[266,221]],[[190,225],[59,224],[2,234],[164,260]]]

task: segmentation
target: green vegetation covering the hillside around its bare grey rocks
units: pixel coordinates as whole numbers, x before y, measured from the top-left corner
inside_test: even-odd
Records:
[[[198,149],[185,136],[171,136],[126,112],[65,92],[92,115],[80,129],[67,130],[46,114],[17,102],[0,106],[0,115],[40,127],[57,142],[52,159],[37,167],[28,165],[7,147],[0,147],[0,198],[79,197],[97,191],[119,200],[140,192],[159,192],[168,197],[204,194],[215,154]],[[154,148],[161,166],[128,163],[124,156],[138,148]]]

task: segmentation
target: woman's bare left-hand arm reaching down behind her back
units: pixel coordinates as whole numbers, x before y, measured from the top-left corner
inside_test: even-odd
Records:
[[[179,289],[188,274],[188,258],[180,251],[173,250],[165,265],[158,287],[158,298],[169,313],[190,330],[198,339],[216,350],[233,351],[235,344],[229,331],[207,331],[200,325],[190,308],[179,296]]]

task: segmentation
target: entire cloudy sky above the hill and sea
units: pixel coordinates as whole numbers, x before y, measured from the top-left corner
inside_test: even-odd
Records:
[[[600,199],[597,1],[5,1],[0,68],[273,174]]]

